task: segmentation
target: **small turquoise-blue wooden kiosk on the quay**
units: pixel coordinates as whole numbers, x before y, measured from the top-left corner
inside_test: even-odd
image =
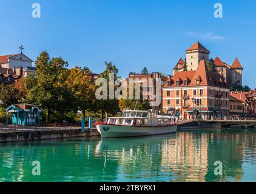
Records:
[[[41,110],[33,104],[13,104],[6,109],[6,125],[8,125],[8,114],[12,114],[12,125],[40,125]]]

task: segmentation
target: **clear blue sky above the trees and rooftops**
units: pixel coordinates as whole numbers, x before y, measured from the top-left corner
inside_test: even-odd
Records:
[[[232,64],[238,56],[243,83],[255,85],[256,1],[170,0],[0,0],[0,55],[24,53],[33,60],[42,50],[93,72],[112,61],[119,75],[163,72],[170,75],[184,50],[200,41],[211,56]],[[32,18],[32,4],[41,18]],[[214,4],[223,18],[214,18]]]

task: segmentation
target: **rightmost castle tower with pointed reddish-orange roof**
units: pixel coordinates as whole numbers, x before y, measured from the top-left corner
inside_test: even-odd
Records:
[[[235,61],[231,65],[231,82],[232,82],[232,84],[243,85],[242,72],[243,72],[243,67],[240,64],[238,58],[235,58]]]

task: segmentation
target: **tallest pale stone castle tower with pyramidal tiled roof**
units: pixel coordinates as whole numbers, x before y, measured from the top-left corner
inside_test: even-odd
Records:
[[[198,64],[204,60],[206,64],[209,62],[209,50],[207,50],[200,42],[195,42],[192,47],[185,51],[187,59],[187,70],[197,70]]]

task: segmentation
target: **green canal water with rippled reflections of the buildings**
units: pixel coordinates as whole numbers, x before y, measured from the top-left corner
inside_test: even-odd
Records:
[[[0,181],[256,181],[256,130],[0,144]]]

